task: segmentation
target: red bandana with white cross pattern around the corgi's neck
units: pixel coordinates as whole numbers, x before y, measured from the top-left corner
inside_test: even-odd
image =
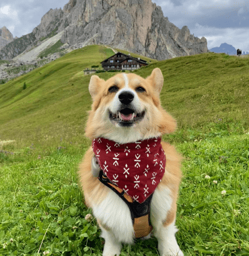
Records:
[[[155,191],[164,176],[166,156],[160,137],[126,144],[96,138],[92,148],[108,179],[139,203]]]

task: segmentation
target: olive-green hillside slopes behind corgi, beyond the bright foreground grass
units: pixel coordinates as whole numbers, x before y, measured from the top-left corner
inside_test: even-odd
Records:
[[[0,139],[24,142],[83,137],[90,75],[83,69],[112,55],[103,46],[86,46],[0,86]],[[206,53],[152,63],[135,71],[164,74],[162,105],[179,127],[201,127],[219,119],[248,127],[249,59]],[[108,79],[114,73],[100,73]],[[26,90],[24,90],[24,82]]]

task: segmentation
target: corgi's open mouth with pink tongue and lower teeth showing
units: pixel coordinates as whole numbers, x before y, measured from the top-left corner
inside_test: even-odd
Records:
[[[109,110],[109,119],[112,122],[119,123],[122,126],[131,126],[143,119],[145,116],[145,110],[141,113],[135,113],[131,108],[123,108],[118,111],[117,114],[112,113]]]

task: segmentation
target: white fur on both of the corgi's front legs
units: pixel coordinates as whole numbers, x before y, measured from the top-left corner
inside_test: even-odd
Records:
[[[158,250],[161,256],[184,256],[176,242],[175,223],[164,227],[168,212],[172,207],[171,191],[168,187],[155,189],[151,200],[151,224],[153,235],[158,240]],[[109,191],[106,198],[93,207],[94,216],[102,226],[102,237],[105,239],[103,256],[120,255],[121,243],[133,243],[135,237],[131,212],[127,204],[114,193]]]

